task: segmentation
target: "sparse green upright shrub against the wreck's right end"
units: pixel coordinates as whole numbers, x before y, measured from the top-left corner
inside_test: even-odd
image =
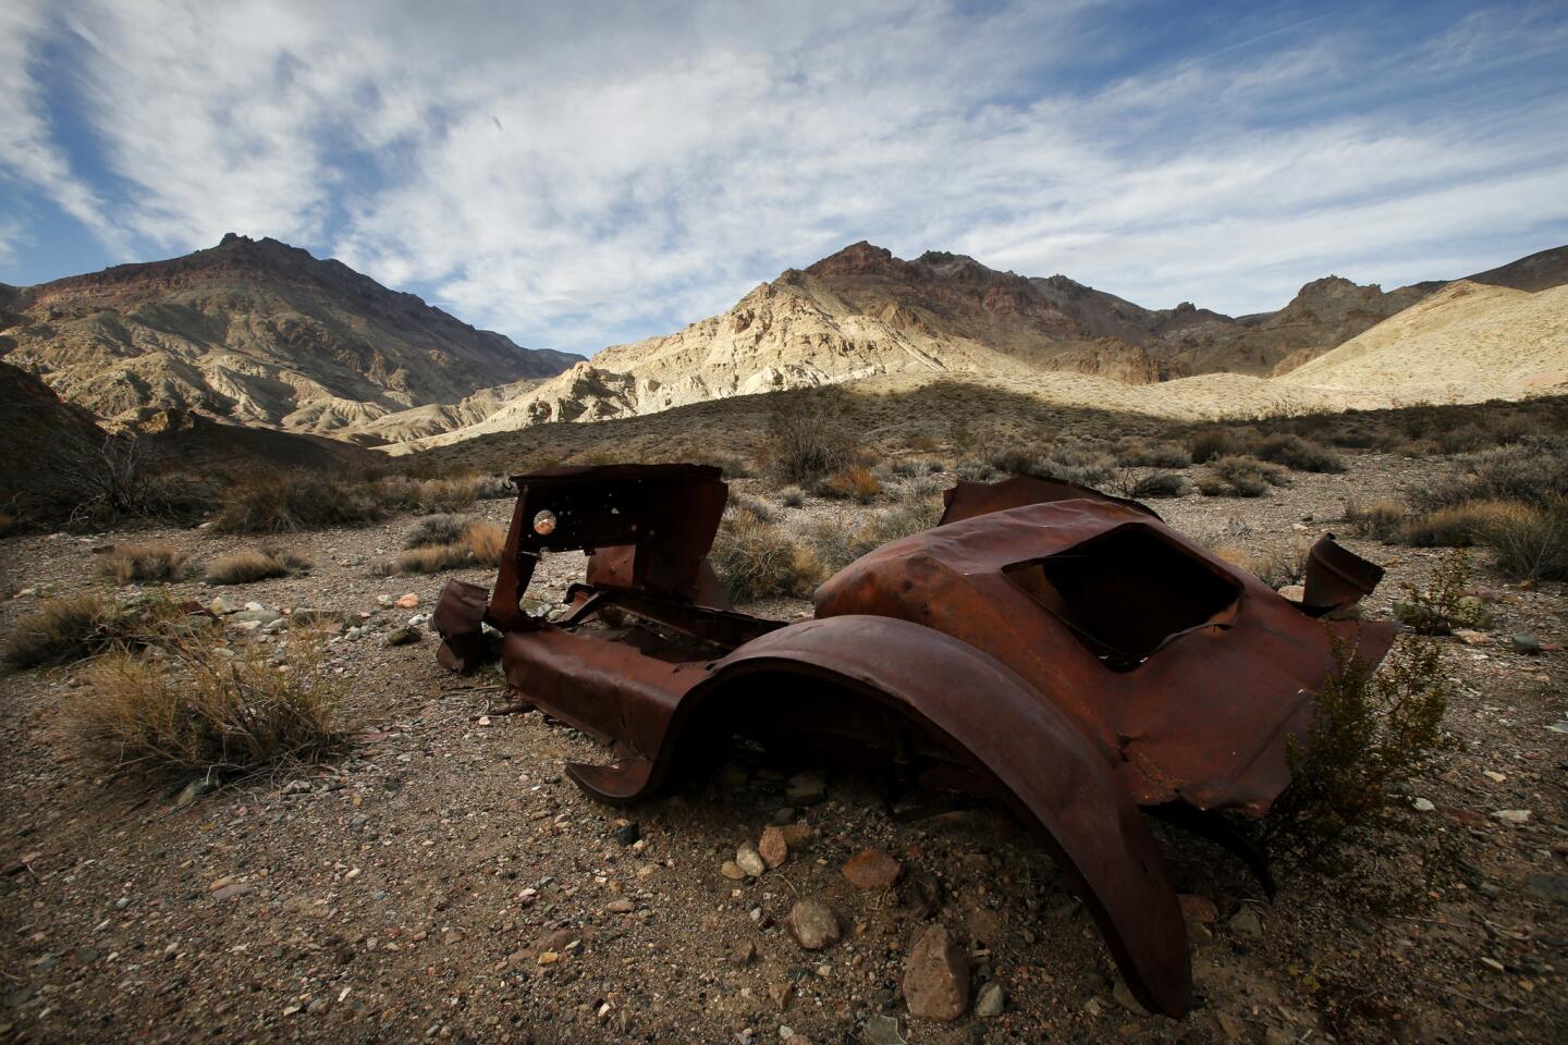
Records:
[[[1290,866],[1352,873],[1372,890],[1397,893],[1402,882],[1374,874],[1375,863],[1432,823],[1411,810],[1414,786],[1454,747],[1443,730],[1449,688],[1441,647],[1406,644],[1374,671],[1336,642],[1334,661],[1309,733],[1287,741],[1290,786],[1269,813],[1265,846]],[[1405,891],[1416,896],[1421,887]],[[1385,891],[1381,902],[1391,896]]]

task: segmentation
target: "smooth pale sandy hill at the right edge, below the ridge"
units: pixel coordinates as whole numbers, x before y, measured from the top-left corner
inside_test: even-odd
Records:
[[[1535,293],[1455,280],[1278,379],[1458,403],[1568,385],[1568,285]]]

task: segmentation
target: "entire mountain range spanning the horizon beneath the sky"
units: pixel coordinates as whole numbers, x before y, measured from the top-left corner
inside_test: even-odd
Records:
[[[964,376],[1170,415],[1273,400],[1344,409],[1568,384],[1563,284],[1557,248],[1389,291],[1328,276],[1278,312],[1228,316],[861,241],[720,315],[583,360],[230,233],[168,262],[0,285],[0,354],[111,423],[168,428],[174,412],[406,450],[866,379]]]

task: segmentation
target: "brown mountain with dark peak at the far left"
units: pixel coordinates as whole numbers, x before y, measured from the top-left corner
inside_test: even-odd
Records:
[[[168,262],[0,288],[0,354],[105,418],[179,409],[320,434],[579,359],[234,233]]]

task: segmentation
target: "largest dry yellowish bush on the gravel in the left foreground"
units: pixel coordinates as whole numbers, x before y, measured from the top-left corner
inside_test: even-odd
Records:
[[[114,771],[234,779],[334,747],[342,678],[307,633],[229,649],[193,636],[151,656],[116,647],[69,710],[86,750]]]

